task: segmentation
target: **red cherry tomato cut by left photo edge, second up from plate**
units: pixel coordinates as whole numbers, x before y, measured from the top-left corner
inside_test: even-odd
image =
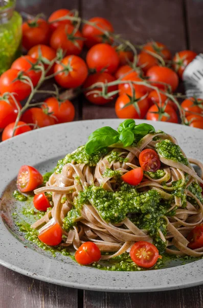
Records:
[[[22,106],[16,101],[19,108]],[[17,118],[18,109],[15,105],[15,101],[10,95],[3,95],[0,97],[0,129],[5,128],[12,122],[15,122]]]

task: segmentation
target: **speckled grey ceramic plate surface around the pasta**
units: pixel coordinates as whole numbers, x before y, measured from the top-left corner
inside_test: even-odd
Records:
[[[69,257],[57,255],[25,241],[11,215],[21,202],[12,198],[21,165],[51,170],[59,158],[84,144],[95,129],[117,128],[120,120],[81,121],[37,129],[0,144],[0,263],[21,274],[69,287],[97,291],[146,292],[182,288],[203,283],[203,259],[186,265],[145,272],[110,272],[80,266]],[[142,121],[149,122],[150,121]],[[141,123],[141,121],[137,121]],[[196,128],[151,123],[175,136],[186,155],[203,161],[203,131]]]

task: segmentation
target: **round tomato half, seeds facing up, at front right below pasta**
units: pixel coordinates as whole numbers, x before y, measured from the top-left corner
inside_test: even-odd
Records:
[[[156,246],[145,241],[134,243],[130,249],[130,258],[141,267],[150,268],[154,266],[159,257]]]

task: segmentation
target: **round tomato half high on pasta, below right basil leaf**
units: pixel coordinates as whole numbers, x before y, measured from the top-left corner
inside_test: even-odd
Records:
[[[161,166],[159,156],[152,149],[145,149],[140,153],[139,163],[143,170],[148,172],[155,172]]]

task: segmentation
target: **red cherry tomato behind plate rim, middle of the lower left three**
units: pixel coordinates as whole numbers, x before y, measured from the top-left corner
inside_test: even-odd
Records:
[[[22,121],[45,127],[56,124],[56,120],[51,115],[46,114],[41,108],[30,108],[22,115]]]

